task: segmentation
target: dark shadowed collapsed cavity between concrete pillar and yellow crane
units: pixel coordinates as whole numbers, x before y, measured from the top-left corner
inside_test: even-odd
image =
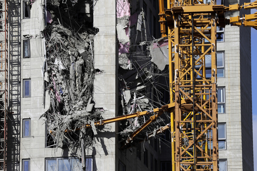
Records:
[[[167,77],[163,70],[165,65],[155,61],[159,60],[156,40],[149,34],[149,26],[145,11],[140,8],[137,1],[117,0],[117,39],[119,50],[119,113],[127,115],[140,111],[151,111],[153,108],[164,105],[163,92],[160,87],[168,87],[158,83],[159,77]],[[163,44],[164,45],[164,44]],[[166,45],[166,44],[165,44]],[[166,47],[164,47],[166,48]],[[166,53],[166,51],[165,51]],[[154,58],[152,58],[154,57]],[[158,64],[158,65],[157,65]],[[168,91],[167,91],[168,92]],[[140,128],[149,116],[129,119],[119,124],[119,142],[126,143],[129,135]],[[164,124],[164,119],[159,118],[148,128],[142,131],[127,147],[137,146],[139,142],[148,140],[148,134],[154,132]],[[126,148],[126,147],[125,147]]]

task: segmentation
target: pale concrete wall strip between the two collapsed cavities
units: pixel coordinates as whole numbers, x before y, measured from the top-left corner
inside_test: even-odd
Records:
[[[103,118],[113,118],[118,111],[116,0],[95,1],[94,4],[94,27],[99,29],[94,39],[95,68],[103,71],[94,80],[95,108],[105,110]],[[105,128],[94,137],[94,170],[118,170],[117,123]]]

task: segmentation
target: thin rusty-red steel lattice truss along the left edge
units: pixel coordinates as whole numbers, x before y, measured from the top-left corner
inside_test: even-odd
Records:
[[[0,170],[7,163],[8,4],[0,1]]]

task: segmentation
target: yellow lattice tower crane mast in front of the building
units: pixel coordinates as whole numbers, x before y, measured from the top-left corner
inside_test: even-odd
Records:
[[[159,0],[162,37],[169,40],[172,170],[219,170],[217,138],[216,26],[257,29],[257,13],[225,19],[226,11],[256,8],[257,1],[216,5],[204,0]],[[255,21],[251,21],[255,20]],[[167,23],[168,35],[166,35]],[[206,77],[205,57],[211,57]],[[187,99],[187,104],[181,101]]]

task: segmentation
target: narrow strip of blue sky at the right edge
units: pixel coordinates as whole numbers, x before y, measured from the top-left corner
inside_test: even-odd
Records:
[[[251,2],[254,2],[251,0]],[[257,10],[251,10],[255,13]],[[252,127],[254,141],[254,170],[257,171],[257,30],[251,28],[251,60],[252,60]]]

